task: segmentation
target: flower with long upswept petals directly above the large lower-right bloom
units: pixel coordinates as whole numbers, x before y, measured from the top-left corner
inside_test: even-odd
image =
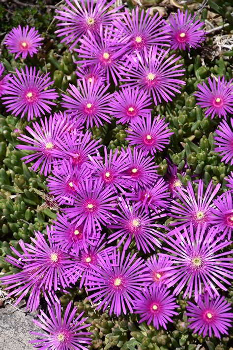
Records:
[[[212,181],[208,184],[206,191],[204,192],[204,182],[199,180],[198,192],[195,195],[192,183],[189,181],[186,188],[177,187],[176,196],[180,200],[172,201],[170,207],[170,215],[177,219],[172,225],[190,225],[203,226],[209,225],[212,221],[211,207],[213,206],[212,200],[219,191],[221,184],[218,183],[213,189]]]

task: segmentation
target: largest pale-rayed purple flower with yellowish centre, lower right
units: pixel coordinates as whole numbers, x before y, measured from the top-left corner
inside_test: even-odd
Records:
[[[168,287],[176,284],[173,293],[178,295],[184,288],[183,297],[191,298],[194,291],[197,301],[203,286],[211,297],[213,294],[219,295],[217,287],[227,291],[223,283],[231,284],[227,279],[233,278],[233,259],[225,257],[231,251],[222,252],[222,249],[231,245],[231,242],[224,240],[224,235],[219,237],[216,228],[207,231],[206,225],[202,229],[198,227],[196,232],[191,225],[189,230],[183,227],[181,232],[175,228],[173,233],[174,238],[164,238],[168,245],[164,249],[169,254],[161,254],[170,257],[174,265],[167,283]]]

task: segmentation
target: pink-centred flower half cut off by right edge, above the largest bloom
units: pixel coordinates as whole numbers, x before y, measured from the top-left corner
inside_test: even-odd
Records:
[[[213,204],[215,207],[211,208],[213,213],[211,224],[223,234],[228,235],[228,240],[231,240],[233,229],[233,196],[231,191],[215,199]]]

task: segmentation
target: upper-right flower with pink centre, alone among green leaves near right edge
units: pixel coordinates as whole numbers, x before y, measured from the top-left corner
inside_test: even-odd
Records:
[[[218,82],[215,78],[211,80],[208,78],[207,86],[205,82],[198,84],[197,87],[200,91],[196,92],[194,96],[197,97],[197,105],[202,108],[207,108],[204,112],[205,116],[211,114],[211,119],[214,115],[218,115],[219,118],[223,117],[227,119],[227,114],[233,114],[233,79],[229,82],[218,76]]]

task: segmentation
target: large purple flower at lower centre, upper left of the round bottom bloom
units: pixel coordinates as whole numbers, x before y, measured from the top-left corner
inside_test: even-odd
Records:
[[[110,306],[110,315],[126,315],[126,308],[133,313],[133,300],[148,280],[145,262],[142,258],[135,260],[136,256],[115,250],[111,258],[107,254],[99,258],[87,282],[88,297],[98,303],[96,310],[105,311]]]

